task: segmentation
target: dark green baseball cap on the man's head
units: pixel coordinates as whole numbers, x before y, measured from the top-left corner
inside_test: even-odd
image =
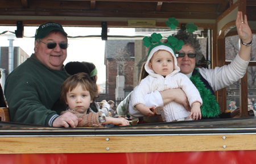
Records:
[[[38,29],[36,29],[36,33],[35,33],[35,40],[38,38],[44,38],[48,35],[49,32],[53,31],[53,30],[59,30],[61,32],[63,32],[63,34],[65,36],[67,36],[68,34],[64,31],[63,27],[61,26],[61,24],[59,23],[55,23],[55,22],[47,22],[44,24],[41,24]]]

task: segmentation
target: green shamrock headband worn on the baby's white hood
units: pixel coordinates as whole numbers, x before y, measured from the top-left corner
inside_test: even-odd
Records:
[[[181,47],[184,45],[183,40],[178,40],[176,37],[169,36],[167,38],[168,42],[167,43],[162,43],[160,40],[162,39],[162,35],[160,33],[152,33],[151,37],[144,37],[143,38],[143,45],[146,47],[150,47],[150,50],[148,51],[148,54],[150,54],[151,50],[158,46],[158,45],[166,45],[167,47],[170,47],[174,52],[175,48],[177,51],[181,49]],[[154,44],[153,44],[154,43]]]

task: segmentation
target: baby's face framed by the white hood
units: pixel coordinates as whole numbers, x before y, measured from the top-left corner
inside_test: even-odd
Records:
[[[174,57],[168,51],[157,51],[153,54],[148,66],[150,69],[154,70],[156,74],[165,77],[174,71]]]

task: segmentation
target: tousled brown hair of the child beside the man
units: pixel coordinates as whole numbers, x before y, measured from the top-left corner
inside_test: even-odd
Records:
[[[95,82],[93,82],[89,75],[86,73],[77,73],[67,78],[61,85],[60,99],[63,102],[67,102],[67,92],[72,91],[78,85],[82,86],[82,89],[90,92],[90,98],[93,102],[96,101],[98,96],[98,87]]]

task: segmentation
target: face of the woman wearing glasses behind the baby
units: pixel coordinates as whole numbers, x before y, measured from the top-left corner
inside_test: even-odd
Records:
[[[180,72],[183,74],[189,74],[193,72],[196,66],[196,58],[188,57],[188,53],[195,53],[195,49],[190,45],[183,45],[180,51],[177,52],[184,52],[184,57],[177,57],[177,65],[180,68]]]

